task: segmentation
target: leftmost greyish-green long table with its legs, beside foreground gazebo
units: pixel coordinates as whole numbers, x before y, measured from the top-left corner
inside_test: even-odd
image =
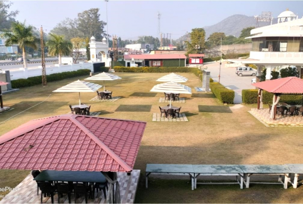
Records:
[[[191,164],[147,164],[145,185],[148,188],[148,176],[153,174],[188,174],[191,180],[191,190],[194,190],[194,169]]]

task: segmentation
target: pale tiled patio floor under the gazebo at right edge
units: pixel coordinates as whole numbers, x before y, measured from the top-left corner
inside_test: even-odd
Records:
[[[270,118],[269,109],[252,109],[250,113],[266,126],[303,126],[302,116],[276,116],[276,120]]]

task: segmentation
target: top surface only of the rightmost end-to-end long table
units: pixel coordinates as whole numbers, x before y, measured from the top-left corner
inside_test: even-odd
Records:
[[[239,165],[244,173],[292,173],[292,171],[282,165]]]

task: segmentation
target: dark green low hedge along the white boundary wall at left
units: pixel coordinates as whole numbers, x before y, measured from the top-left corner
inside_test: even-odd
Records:
[[[91,72],[90,69],[79,69],[77,71],[52,73],[52,74],[46,75],[46,81],[54,82],[54,81],[68,79],[68,78],[79,77],[82,75],[88,75],[88,74],[90,74],[90,72]],[[42,76],[29,77],[27,79],[12,80],[11,84],[12,84],[12,88],[14,88],[14,89],[39,85],[39,84],[42,84]]]

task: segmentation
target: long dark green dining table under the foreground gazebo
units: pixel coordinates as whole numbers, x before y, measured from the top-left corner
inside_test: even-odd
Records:
[[[45,170],[34,181],[105,183],[105,176],[98,171],[54,171]]]

